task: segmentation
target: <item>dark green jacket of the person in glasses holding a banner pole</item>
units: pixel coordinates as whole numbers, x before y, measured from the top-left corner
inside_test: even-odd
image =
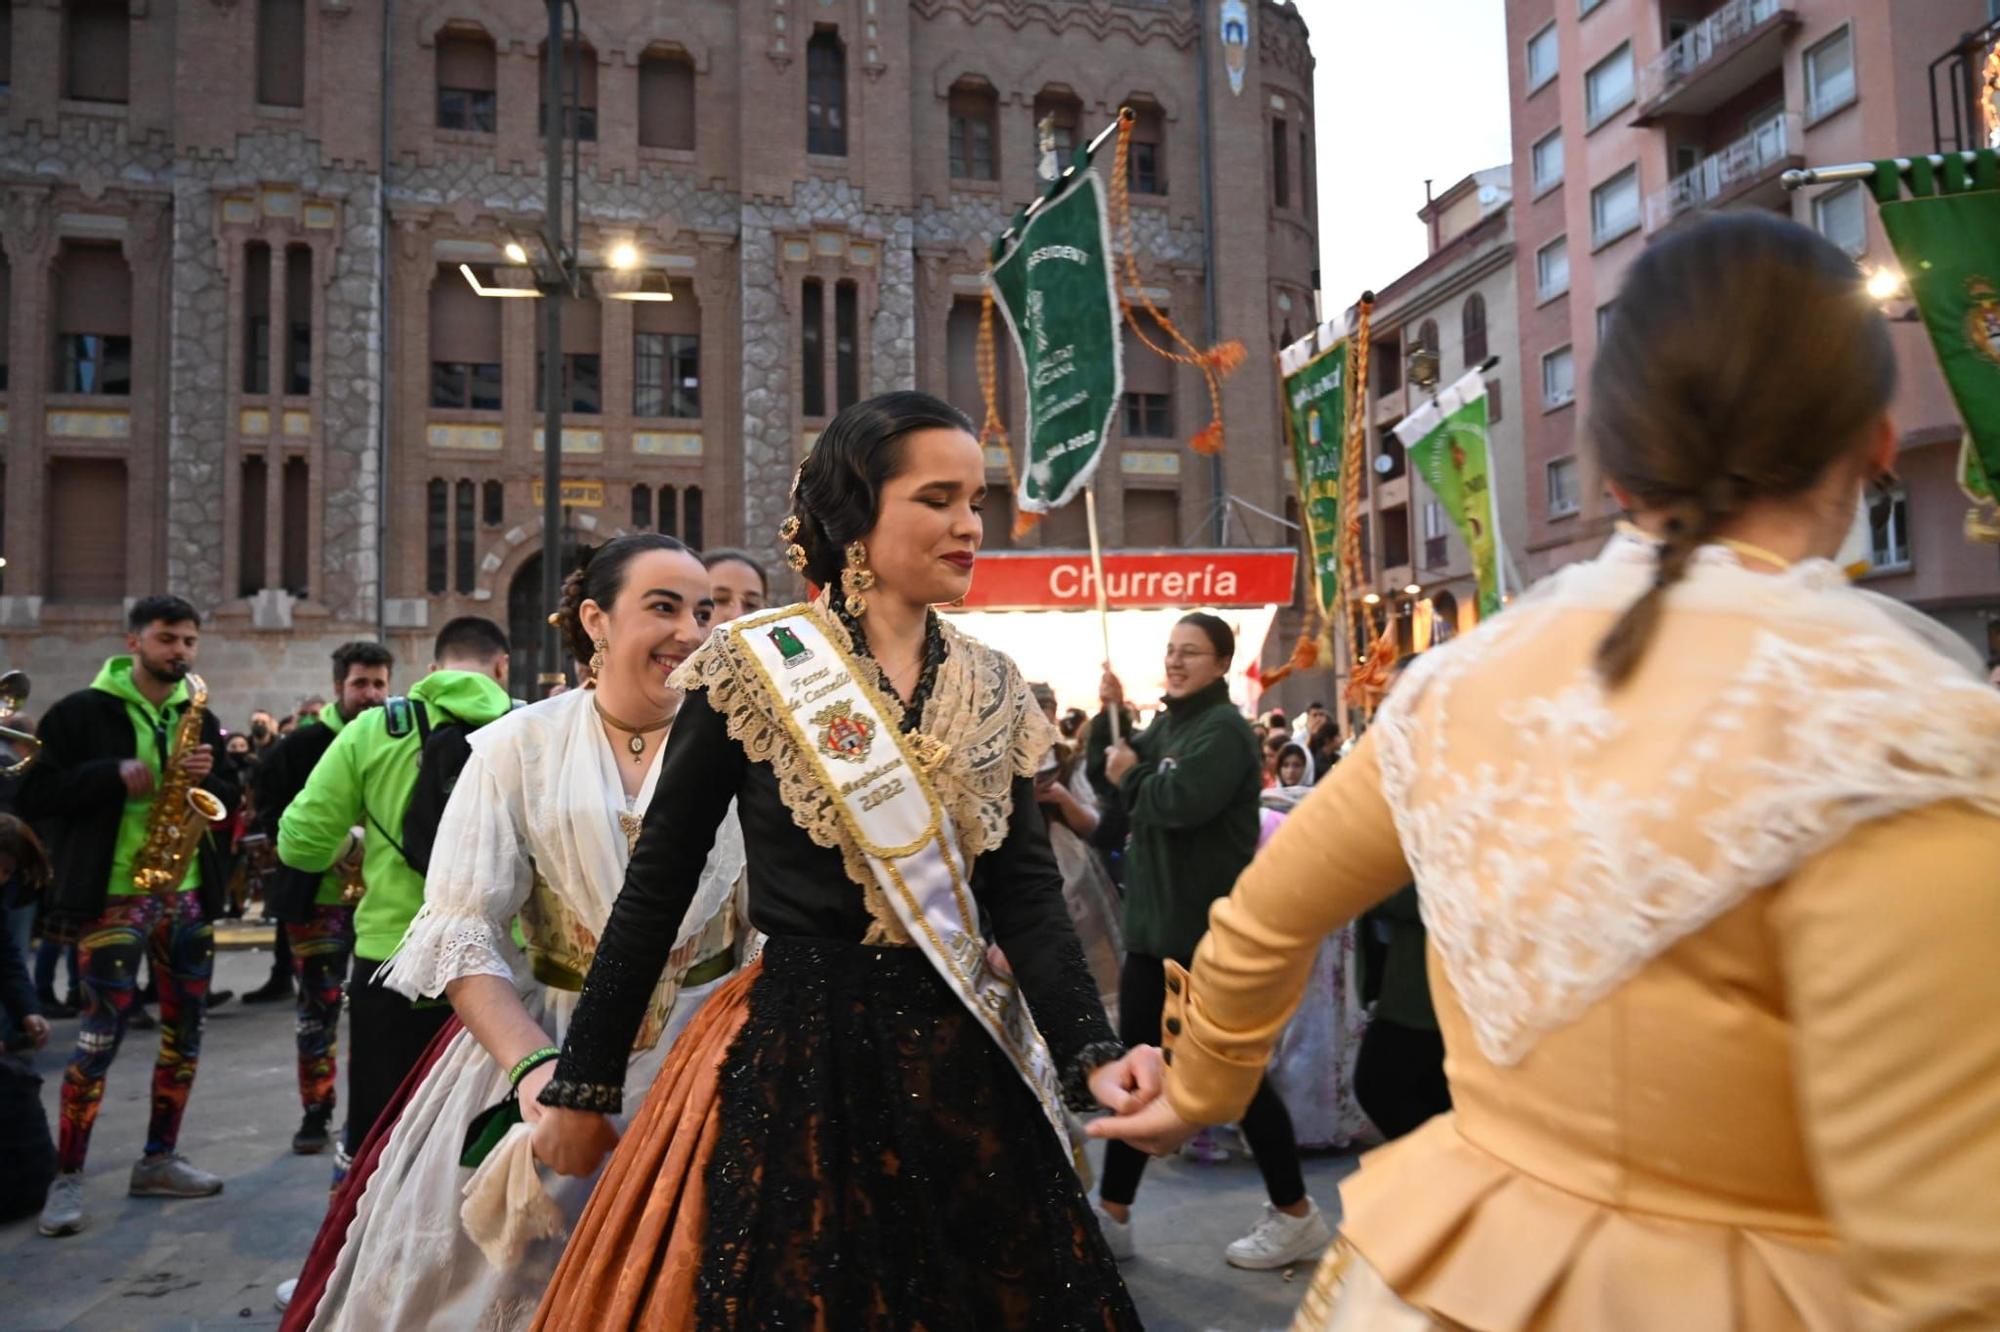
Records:
[[[1104,780],[1110,718],[1090,724],[1090,780]],[[1216,680],[1168,698],[1152,726],[1132,736],[1138,764],[1118,786],[1132,824],[1126,848],[1126,950],[1188,962],[1208,932],[1208,906],[1236,886],[1256,856],[1264,764],[1250,722]]]

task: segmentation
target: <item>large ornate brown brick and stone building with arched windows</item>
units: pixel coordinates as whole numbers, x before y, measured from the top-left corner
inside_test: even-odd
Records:
[[[552,354],[566,540],[776,554],[792,470],[842,406],[916,384],[980,416],[980,272],[1038,188],[1036,126],[1064,150],[1120,104],[1140,280],[1190,336],[1246,344],[1226,488],[1282,512],[1266,368],[1314,324],[1318,246],[1288,2],[1250,4],[1248,44],[1170,0],[584,6],[558,52],[580,244],[638,262],[568,302],[560,348],[536,298],[494,294],[532,288],[506,246],[542,208],[542,8],[396,4],[388,34],[382,14],[0,0],[0,636],[38,692],[80,684],[160,588],[210,616],[230,718],[324,688],[360,634],[388,634],[406,680],[468,612],[510,626],[530,680]],[[1284,544],[1250,510],[1218,532],[1184,448],[1200,378],[1136,346],[1126,364],[1110,538]],[[988,514],[1006,546],[1010,506]]]

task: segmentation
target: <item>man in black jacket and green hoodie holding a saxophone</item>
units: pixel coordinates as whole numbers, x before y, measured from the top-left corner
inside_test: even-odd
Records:
[[[136,1198],[206,1198],[222,1180],[174,1144],[202,1048],[214,966],[210,920],[222,860],[210,832],[236,804],[216,768],[222,728],[192,674],[200,616],[178,596],[148,596],[126,618],[128,656],[42,718],[42,756],[20,790],[20,812],[56,862],[52,916],[78,930],[84,1014],[62,1076],[58,1168],[42,1234],[84,1228],[84,1154],[104,1100],[104,1076],[150,956],[160,982],[160,1054],[152,1072],[146,1152],[132,1166]]]

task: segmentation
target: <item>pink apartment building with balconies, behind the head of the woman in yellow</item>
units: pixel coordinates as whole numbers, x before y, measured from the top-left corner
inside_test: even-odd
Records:
[[[1936,142],[1932,62],[1994,16],[1992,0],[1508,0],[1530,576],[1594,554],[1616,518],[1582,412],[1626,264],[1712,208],[1770,208],[1894,264],[1862,184],[1790,194],[1780,176],[1976,146]],[[1896,352],[1902,484],[1874,506],[1868,586],[1990,650],[2000,558],[1962,536],[1962,426],[1918,324],[1896,324]]]

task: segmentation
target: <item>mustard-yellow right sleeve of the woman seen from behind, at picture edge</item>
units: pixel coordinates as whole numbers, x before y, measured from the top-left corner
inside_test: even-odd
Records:
[[[1774,902],[1798,1100],[1858,1328],[2000,1328],[2000,818],[1866,824]]]

